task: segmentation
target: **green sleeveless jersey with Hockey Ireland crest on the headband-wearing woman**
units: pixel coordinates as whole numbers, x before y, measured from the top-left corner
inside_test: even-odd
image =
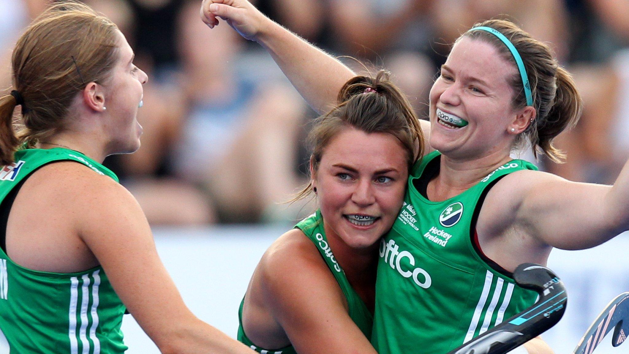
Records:
[[[537,299],[494,270],[474,241],[477,206],[493,183],[537,168],[512,160],[456,197],[431,202],[416,186],[430,180],[426,165],[438,168],[439,156],[413,166],[398,219],[381,241],[372,335],[380,354],[447,353]]]

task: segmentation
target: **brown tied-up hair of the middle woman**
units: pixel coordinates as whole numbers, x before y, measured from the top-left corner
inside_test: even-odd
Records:
[[[365,133],[388,133],[406,149],[408,168],[423,156],[424,139],[419,118],[400,89],[381,70],[375,77],[355,76],[338,93],[338,105],[315,120],[308,134],[313,169],[319,168],[321,157],[330,141],[344,128],[352,127]],[[312,193],[312,183],[304,186],[295,202]]]

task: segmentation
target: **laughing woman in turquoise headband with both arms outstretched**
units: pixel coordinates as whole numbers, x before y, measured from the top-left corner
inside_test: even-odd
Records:
[[[210,27],[228,20],[259,42],[315,110],[353,76],[247,1],[204,0],[201,18]],[[589,248],[629,229],[629,164],[610,187],[509,157],[528,141],[559,161],[552,142],[581,108],[552,50],[513,23],[478,23],[455,42],[430,93],[428,154],[381,241],[372,333],[380,354],[456,348],[535,300],[513,280],[520,263],[545,264],[553,248]],[[526,350],[550,351],[540,341]]]

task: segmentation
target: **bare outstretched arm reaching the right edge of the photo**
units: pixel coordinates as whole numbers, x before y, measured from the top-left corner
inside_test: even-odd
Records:
[[[629,166],[625,166],[614,186],[577,183],[538,171],[518,171],[489,192],[479,225],[489,222],[498,229],[515,226],[548,246],[585,249],[629,229],[627,205]]]

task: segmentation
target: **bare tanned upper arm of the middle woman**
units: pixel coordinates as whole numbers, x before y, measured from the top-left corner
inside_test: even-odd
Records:
[[[305,246],[292,248],[290,259],[276,254],[262,260],[265,305],[299,354],[376,354],[315,246]]]

